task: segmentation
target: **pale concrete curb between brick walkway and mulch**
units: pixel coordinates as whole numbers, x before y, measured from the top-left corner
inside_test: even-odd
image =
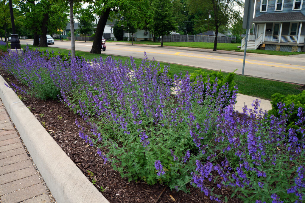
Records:
[[[107,203],[0,76],[0,98],[27,150],[59,203]]]

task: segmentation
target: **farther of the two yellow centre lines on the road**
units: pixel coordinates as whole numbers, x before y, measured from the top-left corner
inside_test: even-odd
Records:
[[[117,46],[117,47],[120,47],[120,48],[125,48],[125,47],[121,47],[121,46]],[[132,49],[140,49],[140,48],[132,48]],[[130,49],[118,49],[118,50],[128,50],[130,51]],[[165,52],[174,52],[175,54],[168,54],[168,53],[162,53],[160,52],[160,50],[158,49],[149,49],[150,51],[159,51],[159,52],[150,52],[150,53],[156,53],[156,54],[167,54],[167,55],[180,55],[180,53],[183,53],[183,52],[174,52],[174,51],[165,51]],[[139,52],[139,51],[136,51],[135,52]],[[143,50],[141,49],[140,52],[143,52]],[[178,53],[178,54],[176,54]],[[184,53],[184,54],[188,54],[188,53]],[[199,56],[212,56],[212,55],[208,55],[208,54],[197,54],[197,53],[191,53],[193,55],[199,55]],[[217,54],[217,53],[216,53]],[[182,56],[182,55],[181,55]],[[190,55],[183,55],[183,56],[189,56],[189,57],[193,57],[193,56],[190,56]],[[237,60],[243,60],[243,59],[240,59],[240,58],[235,58],[235,57],[227,57],[227,56],[215,56],[217,57],[216,60],[219,60],[219,58],[227,58],[227,59],[237,59]],[[273,64],[280,64],[280,65],[286,65],[286,66],[298,66],[298,67],[304,67],[305,66],[301,66],[301,65],[292,65],[292,64],[287,64],[287,63],[278,63],[278,62],[270,62],[270,61],[260,61],[260,60],[253,60],[253,59],[247,59],[247,61],[255,61],[255,62],[261,62],[261,63],[273,63]],[[268,65],[266,65],[268,66]]]

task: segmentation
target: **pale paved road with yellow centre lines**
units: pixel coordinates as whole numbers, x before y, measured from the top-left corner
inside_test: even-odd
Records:
[[[20,44],[33,44],[32,40],[20,40]],[[243,55],[239,52],[220,54],[192,51],[189,49],[172,49],[159,46],[132,46],[122,43],[106,42],[107,48],[103,54],[133,56],[143,58],[144,51],[149,59],[156,61],[177,63],[187,66],[222,70],[224,72],[242,73]],[[55,41],[50,47],[71,49],[70,41]],[[92,42],[75,42],[76,50],[91,50]],[[229,52],[231,53],[231,52]],[[238,54],[238,55],[236,55]],[[247,53],[245,75],[280,80],[296,84],[305,84],[305,56],[274,56]]]

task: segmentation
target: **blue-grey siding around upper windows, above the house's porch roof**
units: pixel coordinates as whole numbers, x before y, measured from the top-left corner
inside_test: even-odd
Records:
[[[302,5],[302,10],[292,11],[293,0],[283,0],[283,11],[274,11],[276,0],[268,0],[267,12],[260,12],[260,2],[261,0],[257,0],[256,9],[255,9],[255,17],[260,16],[265,13],[277,13],[277,12],[301,12],[305,15],[305,1]]]

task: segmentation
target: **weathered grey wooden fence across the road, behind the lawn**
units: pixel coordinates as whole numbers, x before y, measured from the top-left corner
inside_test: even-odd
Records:
[[[215,36],[209,35],[184,35],[172,34],[163,36],[163,41],[173,42],[214,42]],[[232,43],[236,41],[236,37],[217,37],[217,43]]]

